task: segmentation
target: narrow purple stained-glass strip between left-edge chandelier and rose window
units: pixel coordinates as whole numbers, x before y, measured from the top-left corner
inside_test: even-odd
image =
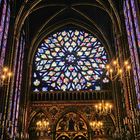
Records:
[[[21,82],[22,82],[22,72],[23,72],[23,59],[24,59],[24,49],[25,49],[25,34],[21,33],[20,39],[16,44],[16,51],[15,51],[15,61],[14,61],[14,73],[16,73],[15,75],[15,79],[16,79],[16,84],[12,85],[14,86],[12,89],[14,90],[12,93],[14,93],[14,95],[12,95],[12,93],[10,94],[10,100],[14,101],[10,102],[10,110],[11,114],[9,116],[9,120],[10,118],[12,118],[12,122],[13,122],[13,129],[12,129],[12,134],[14,134],[17,131],[17,123],[18,123],[18,117],[19,117],[19,109],[20,109],[20,97],[21,97]],[[12,116],[12,117],[11,117]]]

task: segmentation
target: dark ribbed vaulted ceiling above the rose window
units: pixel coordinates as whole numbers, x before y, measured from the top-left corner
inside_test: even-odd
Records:
[[[17,2],[19,4],[19,2]],[[28,1],[27,6],[31,6],[33,1]],[[109,47],[114,52],[113,25],[115,15],[120,2],[115,3],[110,0],[42,0],[32,9],[26,18],[28,23],[29,42],[37,33],[44,30],[51,31],[54,26],[76,26],[82,27],[93,33],[97,33],[100,39],[104,36],[108,41]],[[67,24],[65,24],[67,22]],[[76,23],[76,24],[75,24]],[[117,23],[116,23],[117,24]]]

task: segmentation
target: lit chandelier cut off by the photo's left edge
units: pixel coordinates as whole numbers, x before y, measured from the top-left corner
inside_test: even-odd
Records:
[[[12,72],[8,67],[4,67],[2,69],[1,77],[0,77],[0,86],[8,85],[10,82],[10,78],[12,76]]]

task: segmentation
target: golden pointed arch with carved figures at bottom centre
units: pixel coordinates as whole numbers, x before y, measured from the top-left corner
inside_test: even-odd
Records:
[[[88,126],[83,119],[82,115],[75,112],[68,112],[64,114],[56,124],[56,139],[61,139],[67,136],[69,139],[75,137],[88,138]]]

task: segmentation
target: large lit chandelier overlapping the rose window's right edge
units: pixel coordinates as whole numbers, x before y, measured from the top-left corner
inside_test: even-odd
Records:
[[[130,70],[131,66],[129,64],[129,61],[126,60],[123,62],[123,65],[120,66],[118,59],[111,61],[110,64],[106,65],[106,70],[108,72],[110,80],[115,80],[117,77],[122,79],[123,74],[128,73],[130,76]]]

